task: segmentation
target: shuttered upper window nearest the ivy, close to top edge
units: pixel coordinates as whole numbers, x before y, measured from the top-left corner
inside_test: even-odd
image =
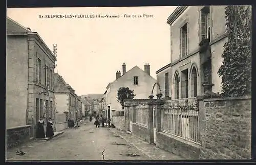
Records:
[[[210,8],[205,6],[201,10],[201,40],[210,39]]]

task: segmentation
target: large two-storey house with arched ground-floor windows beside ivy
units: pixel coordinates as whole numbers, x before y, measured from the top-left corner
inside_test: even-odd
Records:
[[[217,72],[227,41],[225,7],[179,6],[168,17],[171,61],[156,74],[172,99],[198,96],[204,82],[214,84],[212,92],[221,92]]]

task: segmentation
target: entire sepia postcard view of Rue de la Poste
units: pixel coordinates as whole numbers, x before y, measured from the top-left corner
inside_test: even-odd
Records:
[[[7,8],[5,160],[252,159],[251,12]]]

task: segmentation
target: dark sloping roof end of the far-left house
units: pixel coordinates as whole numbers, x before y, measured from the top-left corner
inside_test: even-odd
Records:
[[[13,19],[7,17],[7,32],[21,32],[21,33],[27,33],[30,32],[28,28],[20,25],[18,22],[14,21]]]

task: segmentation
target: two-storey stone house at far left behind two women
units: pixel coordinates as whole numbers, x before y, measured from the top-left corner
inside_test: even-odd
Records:
[[[7,18],[6,128],[31,125],[52,117],[55,129],[56,57],[36,32]]]

